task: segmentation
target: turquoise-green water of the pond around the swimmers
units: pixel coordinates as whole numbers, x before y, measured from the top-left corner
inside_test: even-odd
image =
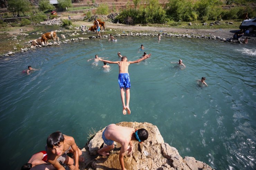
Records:
[[[117,64],[109,72],[95,54],[137,60],[144,44],[152,58],[129,66],[131,115],[122,114]],[[54,131],[83,147],[89,130],[121,121],[150,122],[164,141],[215,169],[256,169],[255,42],[120,37],[45,47],[0,59],[3,169],[20,169],[44,150]],[[176,64],[183,60],[186,68]],[[27,66],[38,69],[22,73]],[[196,80],[206,77],[209,87]]]

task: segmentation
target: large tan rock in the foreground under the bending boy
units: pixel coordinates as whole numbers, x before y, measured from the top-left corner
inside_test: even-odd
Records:
[[[125,156],[125,167],[129,170],[212,170],[210,166],[204,162],[197,161],[193,157],[180,156],[176,148],[164,143],[158,128],[153,124],[144,122],[120,122],[117,125],[144,128],[149,133],[148,139],[142,144],[133,141],[134,150],[131,157]],[[105,127],[106,128],[106,127]],[[121,169],[119,164],[120,144],[116,143],[115,149],[110,152],[107,157],[100,156],[97,151],[103,147],[101,138],[105,129],[98,131],[95,136],[86,143],[82,149],[85,162],[80,163],[80,169],[92,168],[95,170]]]

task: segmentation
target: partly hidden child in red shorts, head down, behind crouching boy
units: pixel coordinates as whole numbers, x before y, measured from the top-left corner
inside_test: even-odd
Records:
[[[47,162],[47,153],[46,151],[40,151],[35,154],[28,160],[28,163],[24,164],[21,167],[21,170],[28,170],[36,165],[44,164]]]

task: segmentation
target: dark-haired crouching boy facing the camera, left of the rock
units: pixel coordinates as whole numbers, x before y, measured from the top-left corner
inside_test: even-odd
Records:
[[[82,151],[76,146],[74,138],[63,135],[60,131],[54,132],[48,136],[46,152],[47,161],[57,170],[65,170],[60,162],[67,164],[71,170],[79,170],[78,161],[84,161],[84,158],[81,156]],[[74,154],[74,159],[67,156],[67,153],[70,152]]]

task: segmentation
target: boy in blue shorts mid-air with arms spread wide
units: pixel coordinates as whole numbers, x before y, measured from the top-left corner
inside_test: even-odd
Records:
[[[108,61],[108,60],[102,60],[101,58],[98,58],[100,61],[105,61],[110,64],[118,64],[119,66],[118,83],[120,86],[121,100],[123,104],[123,114],[126,114],[126,109],[128,114],[131,114],[131,110],[129,108],[131,84],[130,84],[130,77],[128,73],[128,67],[130,64],[138,63],[142,60],[150,58],[150,56],[151,54],[147,54],[145,57],[140,58],[136,61],[127,61],[126,56],[123,56],[121,58],[121,61]],[[126,92],[126,104],[125,104],[125,92]]]

